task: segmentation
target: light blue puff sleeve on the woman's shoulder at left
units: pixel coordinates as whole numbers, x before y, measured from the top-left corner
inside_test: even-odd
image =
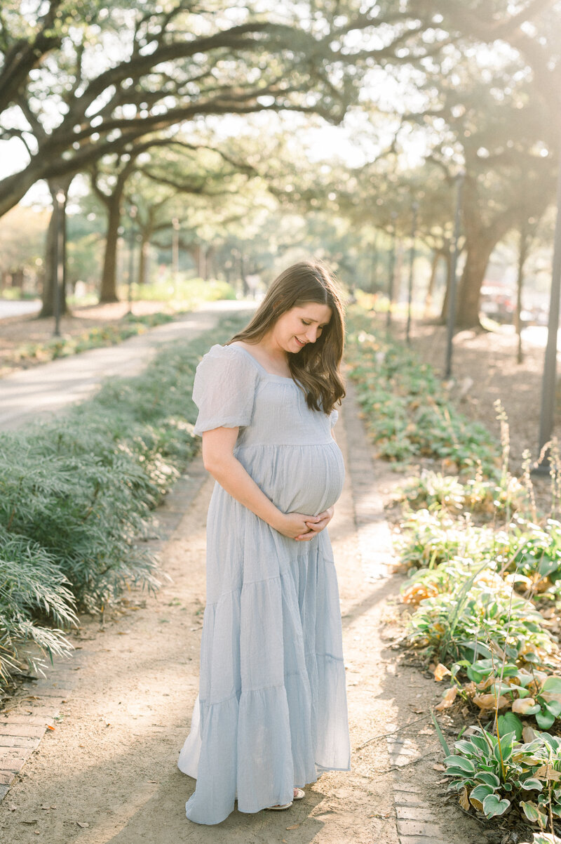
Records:
[[[193,401],[199,408],[194,433],[249,425],[254,410],[256,367],[232,346],[212,346],[195,372]]]

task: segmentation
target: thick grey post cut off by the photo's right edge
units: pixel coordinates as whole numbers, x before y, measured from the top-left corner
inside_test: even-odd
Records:
[[[559,292],[561,289],[561,157],[557,181],[557,219],[553,239],[553,267],[549,296],[548,344],[546,346],[542,377],[542,408],[540,412],[539,451],[551,440],[555,414],[555,381],[557,369],[557,340],[559,330]],[[532,469],[532,474],[549,473],[549,449]]]

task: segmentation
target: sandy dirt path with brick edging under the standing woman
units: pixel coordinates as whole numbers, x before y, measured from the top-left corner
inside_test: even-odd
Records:
[[[345,403],[336,433],[348,473],[330,533],[343,614],[352,771],[324,774],[307,789],[307,798],[286,812],[235,811],[214,827],[185,819],[184,802],[195,782],[179,772],[176,760],[198,688],[205,520],[212,486],[195,461],[190,468],[192,493],[186,498],[179,484],[158,511],[164,522],[174,511],[184,513],[163,546],[163,568],[172,582],[156,597],[131,596],[129,608],[105,619],[101,630],[99,619],[83,620],[75,638],[80,650],[72,658],[74,689],[61,707],[56,729],[47,732],[23,776],[0,803],[0,840],[479,840],[469,819],[455,809],[443,809],[435,792],[439,775],[432,766],[440,753],[426,717],[427,707],[439,699],[435,683],[403,664],[390,647],[401,579],[387,576],[387,525],[381,507],[383,495],[401,478],[382,463],[377,463],[376,477],[366,471],[369,446],[352,398]],[[29,711],[34,702],[25,694],[22,690],[12,706]],[[394,733],[398,728],[401,732]],[[386,733],[393,735],[387,738]],[[451,813],[453,832],[442,836],[439,830],[450,826]],[[430,837],[419,839],[426,830]]]

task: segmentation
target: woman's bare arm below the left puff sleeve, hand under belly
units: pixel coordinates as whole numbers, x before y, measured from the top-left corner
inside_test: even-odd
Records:
[[[222,489],[227,491],[228,495],[232,495],[232,498],[279,533],[302,541],[313,539],[316,532],[308,527],[307,522],[316,524],[320,521],[320,517],[281,512],[264,495],[254,479],[234,457],[233,449],[238,439],[238,430],[238,428],[214,428],[203,433],[202,456],[206,470],[218,481]]]

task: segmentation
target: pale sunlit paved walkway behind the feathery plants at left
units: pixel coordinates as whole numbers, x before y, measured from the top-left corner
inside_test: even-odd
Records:
[[[67,405],[88,398],[110,376],[141,372],[163,345],[192,338],[232,311],[248,311],[248,302],[223,300],[129,338],[117,346],[89,349],[0,380],[0,430],[13,430],[30,419],[45,419]]]

